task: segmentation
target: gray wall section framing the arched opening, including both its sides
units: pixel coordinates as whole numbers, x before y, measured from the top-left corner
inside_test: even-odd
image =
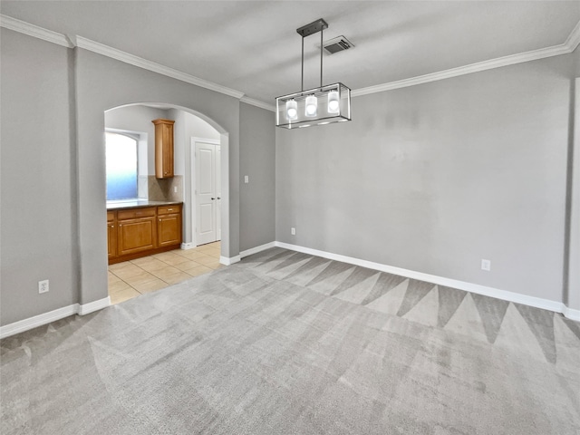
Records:
[[[168,104],[207,121],[222,143],[221,256],[239,254],[239,99],[121,63],[79,48],[73,50],[72,92],[76,144],[75,267],[79,304],[91,312],[108,299],[104,112],[130,104]],[[83,313],[81,313],[83,314]]]

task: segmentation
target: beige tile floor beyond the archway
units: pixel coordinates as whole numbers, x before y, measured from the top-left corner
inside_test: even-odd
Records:
[[[220,242],[163,252],[109,266],[111,304],[177,284],[221,267]]]

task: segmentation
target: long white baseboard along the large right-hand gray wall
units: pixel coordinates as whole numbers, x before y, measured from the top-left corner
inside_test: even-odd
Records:
[[[536,308],[542,308],[548,311],[554,311],[556,313],[562,313],[565,317],[572,320],[580,320],[580,311],[573,310],[562,304],[561,302],[551,301],[549,299],[542,299],[540,297],[521,295],[519,293],[508,292],[507,290],[500,290],[494,287],[488,287],[485,285],[478,285],[467,283],[465,281],[459,281],[456,279],[445,278],[443,276],[424,274],[422,272],[416,272],[414,270],[403,269],[401,267],[387,266],[380,263],[373,263],[372,261],[362,260],[360,258],[354,258],[352,256],[341,256],[339,254],[333,254],[330,252],[320,251],[318,249],[312,249],[310,247],[299,247],[297,245],[291,245],[284,242],[275,242],[276,247],[284,247],[285,249],[290,249],[297,252],[302,252],[304,254],[310,254],[312,256],[322,256],[323,258],[328,258],[330,260],[341,261],[343,263],[348,263],[354,266],[367,267],[369,269],[379,270],[381,272],[387,272],[393,275],[405,276],[407,278],[418,279],[420,281],[426,281],[428,283],[433,283],[437,285],[445,285],[448,287],[458,288],[459,290],[465,290],[466,292],[475,293],[478,295],[485,295],[490,297],[495,297],[497,299],[502,299],[504,301],[515,302],[516,304],[524,304],[529,306],[534,306]]]

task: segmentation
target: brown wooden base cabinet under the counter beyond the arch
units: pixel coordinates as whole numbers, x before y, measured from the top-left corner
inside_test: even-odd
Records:
[[[107,230],[109,264],[175,249],[182,240],[181,205],[108,211]]]

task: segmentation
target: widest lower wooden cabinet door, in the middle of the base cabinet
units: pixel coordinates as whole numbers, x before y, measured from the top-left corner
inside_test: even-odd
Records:
[[[120,256],[153,249],[157,237],[155,217],[120,220],[117,235]]]

